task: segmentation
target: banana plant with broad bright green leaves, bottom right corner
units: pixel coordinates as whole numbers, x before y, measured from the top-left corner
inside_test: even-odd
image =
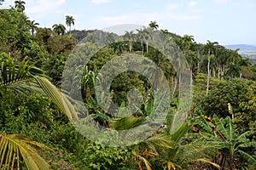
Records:
[[[256,167],[255,154],[251,155],[245,151],[245,148],[255,149],[256,147],[254,141],[247,139],[247,135],[253,132],[247,131],[241,135],[237,134],[230,116],[219,119],[218,116],[214,115],[213,123],[207,122],[201,116],[197,118],[196,122],[205,131],[199,133],[201,138],[218,144],[222,149],[222,155],[217,160],[222,168],[226,166],[226,163],[230,169],[236,169],[237,166]],[[242,165],[243,161],[247,161],[247,163]]]

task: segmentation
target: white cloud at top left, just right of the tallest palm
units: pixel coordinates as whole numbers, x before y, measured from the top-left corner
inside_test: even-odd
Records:
[[[64,4],[66,0],[38,0],[27,1],[25,9],[26,14],[49,14],[58,11],[58,8]]]

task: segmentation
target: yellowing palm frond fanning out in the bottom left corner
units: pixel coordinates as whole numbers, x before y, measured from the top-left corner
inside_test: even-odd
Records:
[[[49,149],[44,144],[26,139],[19,134],[0,134],[0,168],[20,169],[20,156],[28,170],[48,170],[49,164],[30,144]]]

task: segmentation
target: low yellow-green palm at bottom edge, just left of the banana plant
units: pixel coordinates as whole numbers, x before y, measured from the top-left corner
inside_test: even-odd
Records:
[[[169,116],[166,122],[166,133],[171,136],[174,144],[167,149],[157,149],[160,161],[164,163],[165,169],[187,169],[189,163],[195,161],[219,167],[218,164],[211,160],[211,157],[217,153],[217,144],[205,142],[201,139],[194,139],[192,142],[186,143],[183,139],[190,136],[188,132],[193,127],[193,124],[184,122],[175,133],[172,133],[172,116]]]

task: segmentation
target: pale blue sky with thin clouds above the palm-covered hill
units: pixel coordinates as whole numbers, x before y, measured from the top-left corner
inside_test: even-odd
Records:
[[[25,14],[41,27],[75,19],[76,30],[103,29],[119,24],[148,26],[195,37],[196,42],[256,45],[256,0],[23,0]],[[15,6],[5,0],[0,8]]]

